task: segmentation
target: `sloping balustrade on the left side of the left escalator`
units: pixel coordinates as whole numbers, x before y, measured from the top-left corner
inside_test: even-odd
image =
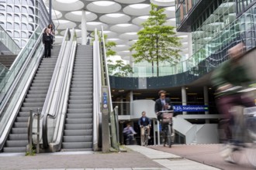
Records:
[[[14,77],[12,86],[9,88],[7,95],[5,96],[5,104],[2,105],[1,110],[1,126],[0,126],[0,151],[2,150],[8,134],[12,129],[12,124],[16,120],[16,115],[19,113],[19,108],[22,105],[22,101],[26,97],[26,93],[29,90],[30,83],[33,80],[33,76],[36,73],[37,67],[40,65],[40,60],[43,56],[43,31],[40,27],[37,27],[35,34],[30,39],[35,39],[32,50],[27,53],[27,57],[22,62],[22,67]],[[4,112],[4,113],[3,113]]]

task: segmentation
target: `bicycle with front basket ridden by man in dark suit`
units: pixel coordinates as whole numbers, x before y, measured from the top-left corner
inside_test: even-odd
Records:
[[[162,124],[162,130],[164,131],[164,147],[167,141],[168,147],[171,148],[171,143],[172,143],[171,134],[174,134],[174,131],[172,128],[173,110],[159,111],[159,113],[161,113],[161,124]]]

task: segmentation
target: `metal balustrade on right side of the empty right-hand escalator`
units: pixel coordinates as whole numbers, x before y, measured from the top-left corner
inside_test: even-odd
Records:
[[[95,29],[95,40],[93,42],[93,151],[102,148],[102,71],[99,49],[98,30]]]

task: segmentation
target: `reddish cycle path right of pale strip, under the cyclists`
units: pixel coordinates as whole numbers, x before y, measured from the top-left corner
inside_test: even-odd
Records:
[[[195,162],[200,162],[206,165],[211,165],[216,168],[225,170],[251,170],[255,169],[247,161],[244,152],[236,155],[238,164],[230,164],[224,162],[220,157],[220,145],[173,145],[172,148],[163,146],[150,146],[158,151],[164,151],[171,154],[179,155],[183,158],[188,158]]]

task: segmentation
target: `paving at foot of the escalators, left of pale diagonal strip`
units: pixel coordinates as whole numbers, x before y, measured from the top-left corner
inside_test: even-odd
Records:
[[[65,168],[166,169],[136,151],[109,154],[102,154],[101,152],[59,152],[35,156],[0,154],[0,169],[62,170]]]

